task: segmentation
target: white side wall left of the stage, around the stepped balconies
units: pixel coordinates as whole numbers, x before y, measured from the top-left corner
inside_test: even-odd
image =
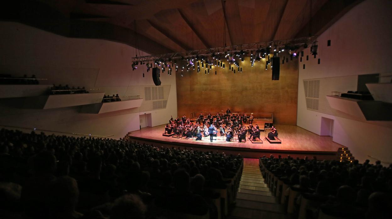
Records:
[[[35,74],[47,78],[41,84],[85,86],[91,92],[125,93],[135,85],[154,85],[151,71],[138,66],[132,71],[135,48],[123,43],[96,39],[66,38],[15,22],[0,22],[0,72],[13,76]],[[137,51],[138,56],[148,55]],[[145,73],[145,77],[142,74]],[[167,107],[148,112],[127,110],[100,115],[81,114],[80,107],[51,110],[0,107],[0,125],[122,138],[139,129],[139,114],[151,113],[152,126],[177,115],[175,74],[161,74],[162,85],[171,85]],[[121,95],[121,94],[120,94]]]

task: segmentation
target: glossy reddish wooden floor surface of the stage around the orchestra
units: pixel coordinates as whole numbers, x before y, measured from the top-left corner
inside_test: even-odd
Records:
[[[264,140],[262,144],[252,143],[247,140],[245,143],[239,142],[227,142],[225,139],[221,139],[220,134],[218,133],[217,140],[210,142],[209,137],[203,138],[201,141],[195,141],[192,139],[185,139],[183,137],[180,138],[172,138],[162,136],[162,133],[165,132],[165,125],[160,125],[156,127],[145,127],[141,130],[133,131],[129,134],[130,138],[145,139],[155,142],[163,141],[165,143],[173,143],[173,145],[178,145],[178,143],[186,144],[188,147],[194,145],[194,147],[198,147],[198,145],[209,146],[206,148],[211,148],[211,146],[215,146],[217,149],[220,147],[233,147],[238,149],[262,149],[262,150],[287,150],[287,151],[312,151],[312,152],[336,152],[339,147],[338,143],[332,141],[332,137],[330,136],[319,136],[308,130],[302,129],[298,126],[294,125],[278,125],[279,139],[281,139],[281,144],[270,144],[267,140]],[[267,136],[267,132],[260,132],[260,138],[263,139],[264,135]],[[154,144],[159,145],[159,144]]]

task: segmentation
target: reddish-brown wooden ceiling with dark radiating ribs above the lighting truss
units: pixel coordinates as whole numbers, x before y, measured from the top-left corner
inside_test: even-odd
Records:
[[[38,1],[68,16],[71,26],[78,22],[83,22],[83,27],[90,24],[105,24],[105,28],[101,28],[100,32],[107,33],[97,34],[99,35],[96,36],[97,38],[122,41],[151,54],[309,36],[309,27],[311,27],[311,34],[316,35],[360,2],[360,0]],[[107,28],[107,25],[111,28]],[[80,29],[82,28],[79,27],[78,30]],[[113,34],[124,36],[113,36]],[[88,36],[94,37],[94,34],[89,33]]]

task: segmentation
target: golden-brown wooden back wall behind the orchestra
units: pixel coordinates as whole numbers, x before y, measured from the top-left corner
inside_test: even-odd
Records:
[[[281,55],[289,56],[288,54]],[[255,62],[251,67],[249,57],[240,63],[242,72],[229,71],[213,66],[210,74],[186,68],[181,76],[181,67],[176,72],[178,115],[189,116],[192,112],[272,112],[274,123],[296,125],[298,97],[298,60],[288,63],[280,61],[280,80],[272,81],[269,65],[265,70],[265,61]],[[195,63],[197,69],[197,63]],[[204,66],[205,67],[205,66]],[[234,68],[236,69],[236,68]],[[236,69],[237,70],[237,69]],[[215,75],[217,71],[217,75]],[[174,71],[173,71],[174,73]]]

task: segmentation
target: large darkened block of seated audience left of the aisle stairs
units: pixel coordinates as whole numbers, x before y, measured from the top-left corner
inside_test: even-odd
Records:
[[[2,218],[223,219],[243,157],[0,130]]]

